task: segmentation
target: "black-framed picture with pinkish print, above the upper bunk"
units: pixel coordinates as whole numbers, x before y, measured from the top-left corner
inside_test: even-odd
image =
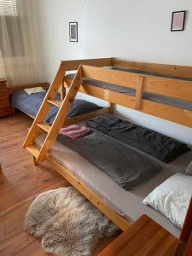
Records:
[[[179,11],[172,13],[172,27],[171,31],[183,31],[184,30],[184,20],[186,11]]]

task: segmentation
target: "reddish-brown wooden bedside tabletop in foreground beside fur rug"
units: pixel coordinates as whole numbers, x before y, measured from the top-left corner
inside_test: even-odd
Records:
[[[118,236],[98,256],[171,256],[177,238],[146,215]]]

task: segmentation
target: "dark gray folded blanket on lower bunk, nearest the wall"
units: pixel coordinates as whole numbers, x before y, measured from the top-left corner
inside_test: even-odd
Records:
[[[119,119],[113,114],[103,114],[88,120],[87,124],[97,131],[151,154],[166,163],[190,150],[184,143],[179,143],[171,137],[132,124],[127,120]]]

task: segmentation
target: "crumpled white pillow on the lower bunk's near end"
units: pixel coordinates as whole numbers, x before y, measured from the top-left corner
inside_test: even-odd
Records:
[[[191,195],[192,177],[177,173],[148,194],[143,203],[154,207],[182,229]]]

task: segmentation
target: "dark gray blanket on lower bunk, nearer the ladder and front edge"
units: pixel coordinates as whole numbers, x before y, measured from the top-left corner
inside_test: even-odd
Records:
[[[89,160],[126,190],[143,183],[161,169],[154,160],[98,131],[77,140],[59,135],[57,140]]]

